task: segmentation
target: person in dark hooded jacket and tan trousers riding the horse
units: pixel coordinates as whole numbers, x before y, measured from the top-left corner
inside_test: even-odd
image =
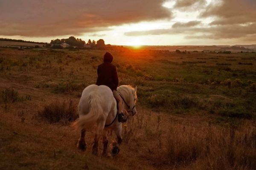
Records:
[[[108,86],[112,92],[113,96],[117,100],[118,105],[118,122],[126,122],[127,117],[122,113],[122,98],[119,95],[119,93],[116,91],[117,85],[118,85],[118,76],[116,71],[116,66],[111,64],[113,61],[113,56],[109,52],[106,52],[106,54],[103,57],[103,63],[98,65],[97,68],[97,82],[96,85],[106,85]]]

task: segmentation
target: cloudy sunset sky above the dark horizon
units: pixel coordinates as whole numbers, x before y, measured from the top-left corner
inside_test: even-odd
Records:
[[[256,0],[0,0],[0,37],[112,45],[256,44]]]

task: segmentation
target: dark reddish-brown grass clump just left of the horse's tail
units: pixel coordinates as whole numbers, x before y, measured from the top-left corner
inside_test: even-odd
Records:
[[[61,120],[65,123],[72,122],[78,118],[76,113],[76,105],[70,100],[66,102],[59,102],[56,100],[48,105],[44,106],[42,111],[38,111],[38,116],[45,119],[49,123],[60,122]]]

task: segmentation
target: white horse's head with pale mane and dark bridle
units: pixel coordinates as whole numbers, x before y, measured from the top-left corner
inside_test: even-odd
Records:
[[[137,113],[135,107],[137,102],[137,86],[136,88],[132,88],[129,85],[121,85],[117,90],[123,99],[123,106],[126,114],[128,116],[134,116]]]

